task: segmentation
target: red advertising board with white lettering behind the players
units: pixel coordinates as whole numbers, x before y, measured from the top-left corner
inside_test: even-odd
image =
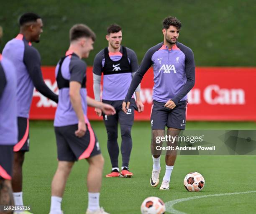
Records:
[[[54,77],[55,67],[42,67],[46,84],[58,92]],[[197,67],[196,84],[188,94],[187,120],[251,120],[256,121],[256,68],[249,67]],[[153,69],[149,69],[141,82],[142,113],[135,120],[149,120],[152,104]],[[87,68],[87,91],[93,95],[92,67]],[[30,118],[54,119],[56,104],[34,90]],[[90,120],[101,120],[93,108],[88,109]]]

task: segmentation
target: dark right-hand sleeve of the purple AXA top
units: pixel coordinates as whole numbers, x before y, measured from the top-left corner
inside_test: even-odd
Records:
[[[177,45],[177,47],[185,54],[185,73],[187,82],[184,84],[182,89],[179,91],[176,97],[172,101],[177,105],[178,102],[186,96],[186,94],[194,87],[195,85],[195,60],[193,51],[184,46]]]

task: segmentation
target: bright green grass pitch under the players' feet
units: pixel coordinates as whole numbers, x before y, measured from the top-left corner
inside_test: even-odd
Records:
[[[31,121],[31,150],[26,153],[23,169],[24,203],[35,214],[50,209],[51,179],[57,166],[56,143],[51,121]],[[105,158],[104,175],[110,172],[106,131],[102,122],[92,122]],[[255,122],[187,122],[187,129],[256,129]],[[120,136],[120,135],[119,135]],[[256,190],[256,156],[180,155],[172,173],[171,189],[152,188],[150,154],[150,123],[135,122],[132,130],[133,150],[130,169],[132,179],[103,178],[100,204],[111,214],[139,214],[141,202],[148,196],[158,196],[165,202],[190,196]],[[120,139],[119,139],[120,142]],[[121,159],[120,159],[121,161]],[[164,168],[164,158],[161,158]],[[86,161],[78,161],[69,176],[62,201],[65,214],[82,214],[87,208],[85,177]],[[205,188],[189,193],[183,187],[184,176],[199,171],[205,177]],[[161,178],[164,176],[164,170]],[[210,197],[182,202],[175,209],[186,213],[255,213],[256,194]]]

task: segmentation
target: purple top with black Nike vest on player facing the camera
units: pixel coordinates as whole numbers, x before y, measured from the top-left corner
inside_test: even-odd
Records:
[[[95,56],[93,63],[94,95],[100,101],[100,80],[103,73],[102,99],[123,100],[138,69],[136,53],[130,48],[120,47],[120,51],[111,53],[102,49]],[[135,90],[135,89],[134,89]],[[136,89],[140,91],[140,85]]]

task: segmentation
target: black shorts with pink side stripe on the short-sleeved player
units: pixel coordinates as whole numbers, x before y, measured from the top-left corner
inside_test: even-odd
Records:
[[[78,161],[100,154],[100,145],[90,124],[86,125],[87,131],[82,138],[75,135],[78,125],[54,127],[58,160]]]

